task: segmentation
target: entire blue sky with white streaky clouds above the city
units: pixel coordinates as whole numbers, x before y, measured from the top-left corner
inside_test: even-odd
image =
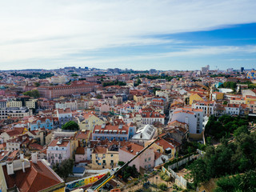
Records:
[[[0,70],[256,68],[255,0],[0,2]]]

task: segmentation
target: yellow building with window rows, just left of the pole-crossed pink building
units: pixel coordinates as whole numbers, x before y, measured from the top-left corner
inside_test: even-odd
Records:
[[[90,169],[101,170],[101,169],[112,169],[118,166],[119,154],[118,147],[110,146],[96,146],[93,153],[91,154]]]

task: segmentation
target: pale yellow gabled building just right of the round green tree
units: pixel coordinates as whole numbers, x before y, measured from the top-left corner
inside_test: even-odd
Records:
[[[80,130],[93,130],[94,126],[102,126],[104,121],[93,111],[86,111],[83,114],[83,118],[78,118],[78,126]]]

